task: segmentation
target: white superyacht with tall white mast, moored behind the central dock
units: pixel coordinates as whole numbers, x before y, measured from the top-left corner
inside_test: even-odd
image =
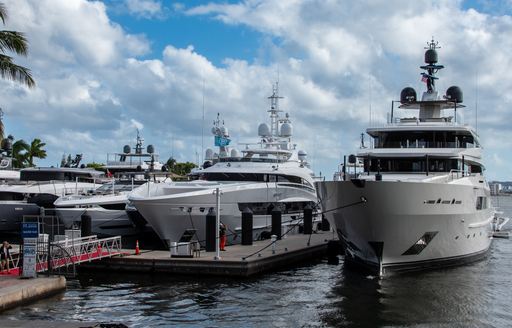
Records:
[[[269,97],[270,125],[259,125],[257,143],[245,144],[241,151],[230,149],[228,129],[217,119],[212,132],[219,151],[206,150],[207,161],[193,174],[197,180],[149,182],[129,195],[167,245],[179,241],[188,229],[195,230],[197,239],[204,242],[205,217],[216,209],[217,188],[220,219],[228,227],[230,243],[241,241],[241,211],[245,208],[253,212],[253,238],[259,239],[270,236],[273,209],[281,210],[283,224],[293,226],[306,205],[316,205],[307,154],[292,142],[292,123],[288,114],[280,116],[280,98],[276,84]]]

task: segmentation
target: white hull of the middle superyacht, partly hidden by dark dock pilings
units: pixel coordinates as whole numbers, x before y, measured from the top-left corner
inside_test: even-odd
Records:
[[[176,193],[170,188],[172,195],[146,197],[144,187],[130,195],[130,201],[153,227],[158,236],[166,243],[178,241],[186,229],[195,229],[199,241],[205,240],[206,215],[210,208],[216,207],[214,186],[221,190],[221,221],[228,227],[228,242],[241,242],[241,204],[279,203],[293,200],[295,203],[316,203],[314,190],[285,186],[275,183],[234,183],[214,184],[201,190]],[[285,197],[286,196],[286,197]],[[292,212],[292,211],[290,211]],[[283,229],[290,224],[298,224],[301,211],[283,214]],[[270,213],[254,215],[253,238],[259,239],[263,231],[270,231],[272,218]],[[298,230],[298,228],[297,228]]]

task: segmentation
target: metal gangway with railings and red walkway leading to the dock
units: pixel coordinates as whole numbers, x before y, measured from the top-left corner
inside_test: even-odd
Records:
[[[39,243],[37,246],[36,271],[73,269],[76,265],[102,258],[121,255],[121,236],[98,239],[96,235]]]

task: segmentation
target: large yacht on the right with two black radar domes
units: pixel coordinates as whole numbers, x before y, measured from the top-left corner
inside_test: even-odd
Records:
[[[495,209],[476,131],[457,119],[462,90],[436,90],[438,43],[421,66],[427,90],[401,91],[388,123],[369,127],[372,144],[349,156],[364,172],[319,182],[326,218],[336,227],[348,263],[379,275],[456,265],[485,257]],[[400,114],[400,112],[398,113]],[[415,116],[411,116],[415,115]]]

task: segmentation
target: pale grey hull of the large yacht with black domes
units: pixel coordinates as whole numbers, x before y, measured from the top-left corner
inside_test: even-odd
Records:
[[[482,177],[357,181],[317,185],[348,259],[383,274],[471,261],[489,249],[494,210],[476,209],[477,197],[490,197]]]

